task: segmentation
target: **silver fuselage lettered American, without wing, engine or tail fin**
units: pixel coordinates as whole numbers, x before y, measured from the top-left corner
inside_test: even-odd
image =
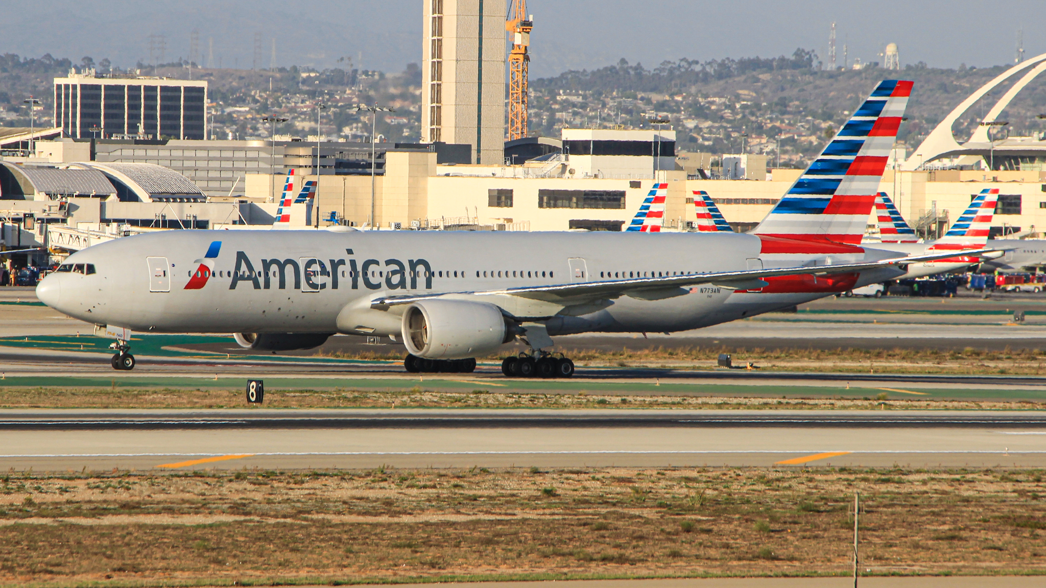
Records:
[[[204,257],[214,242],[221,242],[217,255]],[[65,264],[91,264],[95,273],[51,273],[38,295],[81,320],[146,333],[399,335],[400,317],[371,309],[369,300],[402,294],[468,297],[513,287],[896,256],[866,247],[832,258],[760,249],[758,236],[734,233],[172,230],[73,253]],[[201,269],[207,272],[202,280]],[[839,286],[815,278],[813,286],[776,292],[705,285],[665,299],[626,294],[595,307],[563,309],[544,320],[549,335],[670,333],[791,307],[901,273],[877,269]],[[515,298],[486,299],[509,315],[532,314]]]

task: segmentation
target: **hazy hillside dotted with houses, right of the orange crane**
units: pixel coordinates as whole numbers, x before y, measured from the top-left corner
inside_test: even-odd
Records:
[[[723,153],[736,151],[744,135],[749,146],[766,150],[776,137],[782,159],[801,163],[823,143],[813,139],[845,120],[877,82],[890,77],[914,81],[912,98],[899,140],[916,145],[951,109],[1005,68],[936,69],[925,64],[902,71],[880,67],[859,70],[819,71],[812,67],[812,51],[797,49],[791,58],[722,60],[698,63],[689,60],[664,62],[645,69],[621,60],[617,65],[592,71],[567,71],[555,77],[531,82],[531,130],[558,135],[564,123],[596,120],[638,127],[652,114],[667,115],[691,150]],[[973,116],[955,127],[958,137],[969,137],[979,116],[995,98],[981,100]],[[571,112],[575,114],[572,115]],[[1046,81],[1036,81],[1010,104],[1003,117],[1007,131],[1026,134],[1044,130],[1037,118],[1046,112]],[[581,118],[578,118],[581,117]],[[551,122],[551,123],[549,123]],[[793,141],[792,139],[797,139]],[[758,149],[750,150],[758,152]],[[793,157],[789,157],[789,155]]]

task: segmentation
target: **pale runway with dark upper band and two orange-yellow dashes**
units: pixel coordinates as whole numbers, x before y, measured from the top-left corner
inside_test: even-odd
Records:
[[[1046,467],[1030,412],[5,411],[0,468]]]

